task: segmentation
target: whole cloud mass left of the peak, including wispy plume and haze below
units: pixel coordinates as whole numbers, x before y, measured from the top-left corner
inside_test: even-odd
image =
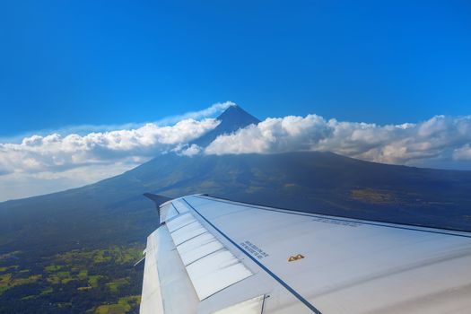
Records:
[[[170,126],[166,124],[175,117],[84,135],[58,132],[29,135],[17,143],[0,144],[0,201],[74,188],[132,169],[213,129],[219,121],[207,117],[232,105],[217,103],[208,109],[189,112]],[[95,128],[100,127],[104,126]],[[196,153],[199,153],[196,145],[180,152],[188,156]]]

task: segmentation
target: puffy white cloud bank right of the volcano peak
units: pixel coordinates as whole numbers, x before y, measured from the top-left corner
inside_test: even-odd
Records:
[[[417,124],[379,126],[308,115],[267,118],[257,126],[219,136],[205,153],[329,151],[367,161],[421,165],[430,160],[467,159],[470,143],[471,116],[436,116]]]

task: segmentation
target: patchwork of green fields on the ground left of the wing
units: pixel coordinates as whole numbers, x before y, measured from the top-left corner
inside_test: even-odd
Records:
[[[141,244],[73,249],[43,257],[34,269],[9,265],[22,260],[21,251],[4,254],[0,256],[0,312],[29,312],[29,305],[38,311],[39,304],[51,313],[136,313],[142,272],[133,265],[143,249]],[[20,300],[22,305],[8,300]]]

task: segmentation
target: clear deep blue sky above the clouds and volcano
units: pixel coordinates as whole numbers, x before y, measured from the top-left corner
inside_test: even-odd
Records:
[[[0,136],[224,100],[258,118],[471,114],[471,3],[438,3],[3,1]]]

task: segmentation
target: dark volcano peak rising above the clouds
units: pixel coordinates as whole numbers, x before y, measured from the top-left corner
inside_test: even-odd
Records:
[[[238,105],[232,105],[228,109],[225,109],[221,115],[217,117],[221,123],[216,126],[213,130],[209,131],[205,135],[197,138],[191,144],[197,144],[201,147],[206,147],[211,144],[217,136],[223,134],[231,134],[240,128],[249,126],[251,124],[257,125],[260,120],[250,115],[244,109],[241,109]]]

